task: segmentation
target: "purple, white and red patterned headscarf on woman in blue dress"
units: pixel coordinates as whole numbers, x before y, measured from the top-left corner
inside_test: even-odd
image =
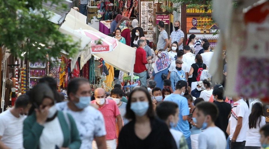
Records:
[[[157,72],[160,72],[166,68],[168,68],[168,66],[170,65],[170,60],[169,60],[169,54],[166,51],[162,51],[161,52],[161,57],[155,59],[155,65],[154,65],[154,72],[155,74]]]

